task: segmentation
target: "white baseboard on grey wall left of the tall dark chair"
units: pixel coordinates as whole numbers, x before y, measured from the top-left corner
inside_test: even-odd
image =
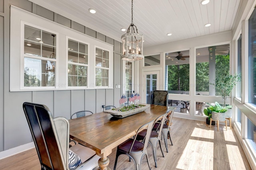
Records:
[[[20,145],[18,147],[12,148],[12,149],[4,150],[4,151],[0,152],[0,159],[12,156],[14,154],[18,154],[20,152],[23,152],[28,149],[32,149],[34,147],[35,147],[34,142],[31,142],[31,143],[27,143],[25,145]]]

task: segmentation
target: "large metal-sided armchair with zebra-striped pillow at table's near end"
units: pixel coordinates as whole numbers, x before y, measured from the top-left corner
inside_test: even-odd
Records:
[[[99,156],[80,144],[69,148],[69,121],[52,118],[47,106],[25,102],[23,110],[33,137],[41,170],[92,170]]]

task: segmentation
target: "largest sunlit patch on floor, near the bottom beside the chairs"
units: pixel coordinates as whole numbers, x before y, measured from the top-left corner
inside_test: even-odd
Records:
[[[213,170],[213,147],[214,143],[212,142],[189,139],[176,168],[181,170]]]

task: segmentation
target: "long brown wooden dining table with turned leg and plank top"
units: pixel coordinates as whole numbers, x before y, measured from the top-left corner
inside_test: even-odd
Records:
[[[107,156],[112,149],[135,135],[142,125],[174,108],[150,105],[145,111],[122,119],[104,112],[70,119],[70,137],[95,150],[96,154],[101,157],[98,161],[100,169],[107,170],[109,169]]]

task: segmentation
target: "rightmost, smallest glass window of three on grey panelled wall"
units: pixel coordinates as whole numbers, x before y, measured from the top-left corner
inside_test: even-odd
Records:
[[[108,86],[109,52],[96,48],[96,86]]]

